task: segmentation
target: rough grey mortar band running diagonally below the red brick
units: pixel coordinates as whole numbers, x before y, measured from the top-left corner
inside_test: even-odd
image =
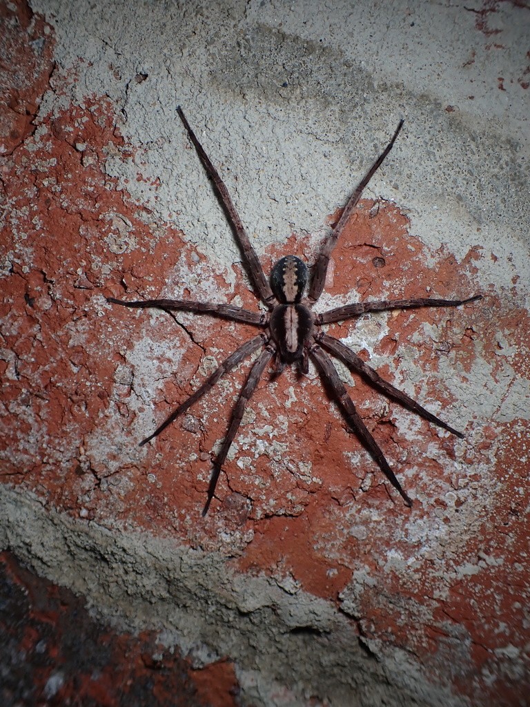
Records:
[[[178,645],[194,667],[230,655],[242,704],[287,707],[316,696],[344,707],[466,705],[425,681],[420,662],[405,651],[363,642],[355,621],[329,602],[234,573],[214,553],[73,520],[6,486],[0,549],[86,597],[104,624],[158,629],[160,642]]]

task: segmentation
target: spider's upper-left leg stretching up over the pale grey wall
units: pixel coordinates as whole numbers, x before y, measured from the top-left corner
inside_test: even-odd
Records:
[[[226,188],[225,182],[223,182],[223,180],[220,178],[218,171],[213,166],[210,158],[204,151],[204,147],[197,139],[192,128],[189,127],[189,123],[187,122],[187,119],[184,116],[184,112],[182,111],[182,108],[180,106],[177,107],[177,113],[179,115],[179,118],[182,120],[184,128],[187,130],[189,139],[194,144],[194,148],[196,149],[197,154],[199,155],[199,158],[203,163],[204,169],[206,170],[206,174],[208,175],[208,177],[211,178],[213,182],[213,188],[215,189],[218,198],[223,204],[223,209],[225,210],[225,214],[228,218],[228,221],[230,221],[230,224],[234,230],[235,237],[237,238],[237,243],[239,243],[240,245],[243,258],[245,259],[245,263],[247,264],[247,271],[250,280],[252,281],[254,288],[256,288],[256,291],[261,301],[264,304],[268,305],[270,308],[274,296],[269,285],[269,280],[266,278],[263,268],[261,267],[261,264],[259,262],[259,258],[257,257],[256,251],[250,243],[247,231],[245,230],[245,227],[241,222],[241,218],[235,209],[232,199],[230,198],[230,194],[228,194],[228,189]]]

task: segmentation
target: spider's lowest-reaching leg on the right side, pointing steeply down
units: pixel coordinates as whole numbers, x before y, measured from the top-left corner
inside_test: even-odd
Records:
[[[338,373],[335,366],[331,362],[331,359],[318,344],[314,344],[311,347],[310,356],[317,364],[322,380],[324,380],[324,383],[329,385],[334,399],[341,407],[344,414],[344,419],[346,419],[348,426],[358,435],[372,457],[374,457],[377,464],[379,464],[379,468],[385,474],[392,486],[394,486],[394,489],[399,492],[401,498],[405,501],[406,506],[410,508],[412,506],[411,499],[408,498],[405,491],[401,488],[401,484],[396,479],[396,474],[394,474],[390,468],[390,465],[384,458],[384,454],[379,448],[379,445],[372,437],[372,434],[361,419],[358,411],[355,409],[353,400],[348,395],[348,392],[346,392],[346,388],[344,387],[341,379],[338,377]]]

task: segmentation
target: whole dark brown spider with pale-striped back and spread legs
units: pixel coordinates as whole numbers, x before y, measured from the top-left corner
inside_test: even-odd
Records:
[[[332,363],[329,354],[346,363],[348,368],[360,374],[367,382],[379,389],[384,395],[390,399],[394,399],[404,407],[415,412],[431,423],[449,431],[459,438],[464,438],[464,435],[449,426],[437,416],[430,413],[418,402],[406,395],[403,391],[391,385],[387,380],[379,376],[374,368],[368,366],[359,356],[348,349],[338,339],[329,336],[320,329],[322,325],[331,324],[332,322],[344,321],[365,314],[365,312],[385,312],[395,309],[416,309],[422,307],[459,307],[468,302],[473,302],[481,298],[481,295],[475,295],[464,300],[442,300],[434,298],[415,298],[403,300],[379,300],[374,302],[361,302],[349,305],[343,305],[331,309],[322,314],[312,312],[313,305],[318,301],[324,290],[324,282],[326,280],[326,271],[328,268],[329,258],[336,246],[338,238],[340,238],[344,226],[348,222],[353,209],[357,205],[363,190],[370,182],[384,158],[391,151],[394,142],[396,141],[404,121],[399,122],[396,132],[391,141],[384,148],[384,151],[379,155],[370,170],[366,173],[363,180],[351,195],[346,208],[343,210],[341,218],[336,226],[331,230],[331,233],[326,237],[320,251],[317,255],[316,262],[312,271],[311,278],[307,266],[300,258],[295,255],[286,255],[274,264],[270,280],[268,280],[261,267],[257,254],[252,247],[247,232],[241,222],[239,214],[228,194],[228,189],[225,183],[220,178],[218,171],[211,163],[211,160],[206,155],[203,146],[197,139],[192,128],[189,126],[184,112],[181,107],[177,107],[177,114],[182,120],[184,129],[186,129],[189,139],[192,141],[199,158],[206,170],[206,174],[213,183],[220,203],[223,206],[225,214],[232,226],[235,238],[242,252],[242,262],[249,276],[250,282],[254,287],[254,293],[259,297],[261,302],[266,307],[266,312],[251,312],[240,307],[235,307],[228,304],[218,304],[213,302],[194,302],[192,300],[139,300],[134,302],[125,302],[114,297],[107,297],[107,302],[123,305],[131,308],[156,308],[165,310],[170,315],[173,310],[186,310],[189,312],[197,312],[199,314],[210,314],[217,317],[222,317],[226,320],[236,322],[245,322],[249,325],[254,325],[261,329],[253,339],[245,341],[239,349],[236,349],[228,358],[220,364],[220,366],[212,373],[212,375],[199,387],[192,395],[190,395],[175,411],[170,414],[163,423],[158,426],[155,431],[141,441],[140,446],[145,445],[150,440],[158,436],[167,426],[169,426],[177,417],[181,416],[194,403],[205,395],[211,388],[216,385],[216,382],[221,376],[235,368],[241,361],[248,356],[254,354],[255,351],[261,349],[261,353],[257,356],[252,364],[252,368],[247,377],[245,384],[242,387],[240,396],[237,399],[228,432],[223,440],[223,445],[213,464],[211,480],[208,486],[208,495],[202,515],[208,513],[211,501],[215,495],[217,482],[223,464],[228,455],[230,445],[234,440],[237,430],[240,426],[245,406],[252,397],[254,390],[263,375],[269,363],[273,361],[275,375],[279,375],[286,364],[294,363],[298,366],[301,374],[308,373],[309,359],[311,358],[317,370],[319,371],[324,385],[329,389],[331,397],[335,399],[338,407],[341,409],[343,417],[348,424],[348,427],[355,432],[360,441],[365,445],[365,448],[370,452],[375,462],[379,465],[382,472],[390,481],[394,489],[403,498],[406,506],[412,506],[411,498],[408,497],[396,475],[392,471],[389,463],[384,457],[382,450],[379,448],[372,433],[361,419],[351,397],[348,395],[341,379],[338,376],[337,370]],[[310,281],[307,296],[303,296],[308,281]]]

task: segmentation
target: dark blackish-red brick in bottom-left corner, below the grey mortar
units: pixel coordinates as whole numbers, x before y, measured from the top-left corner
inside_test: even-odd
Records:
[[[102,631],[83,600],[36,579],[8,553],[0,555],[0,591],[3,705],[211,704],[190,679],[189,661],[167,650],[154,631]]]

